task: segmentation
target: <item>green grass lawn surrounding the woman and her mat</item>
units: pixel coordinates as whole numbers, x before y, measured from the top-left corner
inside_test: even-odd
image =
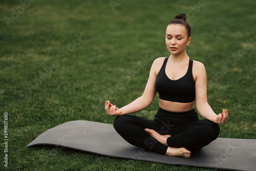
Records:
[[[252,0],[205,3],[189,18],[192,40],[187,54],[206,67],[212,109],[229,111],[220,137],[255,139],[256,4]],[[143,93],[154,59],[169,55],[164,40],[167,23],[181,12],[193,14],[190,6],[195,5],[198,1],[130,0],[113,11],[109,1],[37,0],[22,13],[19,1],[2,1],[0,121],[3,133],[7,112],[8,169],[213,170],[51,146],[26,148],[42,132],[63,122],[113,123],[114,117],[104,112],[104,101],[123,106]],[[12,9],[17,8],[21,14],[8,27],[4,18],[12,18]],[[75,34],[83,37],[79,46],[72,46]],[[157,97],[137,115],[153,119]],[[3,143],[0,146],[3,151]],[[2,160],[0,169],[7,169]]]

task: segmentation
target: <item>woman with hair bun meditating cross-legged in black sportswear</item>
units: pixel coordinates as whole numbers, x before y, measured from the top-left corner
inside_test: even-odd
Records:
[[[184,13],[172,19],[166,28],[169,57],[157,58],[151,67],[144,93],[118,109],[105,102],[105,111],[117,116],[114,128],[127,142],[153,152],[189,158],[191,149],[199,149],[219,136],[220,123],[226,123],[223,109],[216,115],[207,102],[207,77],[204,65],[186,54],[190,26]],[[159,109],[154,120],[133,115],[147,108],[159,93]],[[194,109],[196,100],[198,119]]]

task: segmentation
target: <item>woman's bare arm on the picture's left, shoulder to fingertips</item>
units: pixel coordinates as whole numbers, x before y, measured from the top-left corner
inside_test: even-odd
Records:
[[[150,70],[150,76],[148,77],[146,87],[142,96],[140,96],[130,104],[123,106],[120,109],[116,108],[116,105],[111,104],[110,101],[108,100],[105,102],[106,114],[119,116],[119,115],[139,112],[147,108],[147,106],[149,106],[152,103],[152,101],[156,96],[156,88],[155,88],[155,82],[157,77],[156,73],[157,71],[160,70],[159,66],[161,67],[161,61],[162,61],[161,58],[157,58],[153,62]]]

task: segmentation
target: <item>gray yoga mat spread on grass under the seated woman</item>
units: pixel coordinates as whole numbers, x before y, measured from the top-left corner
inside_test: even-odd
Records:
[[[256,140],[217,138],[189,159],[165,156],[127,143],[112,124],[75,120],[39,135],[27,147],[56,145],[117,158],[230,170],[256,170]]]

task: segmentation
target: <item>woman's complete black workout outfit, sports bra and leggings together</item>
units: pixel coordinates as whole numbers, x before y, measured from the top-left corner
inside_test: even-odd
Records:
[[[165,73],[168,57],[156,78],[156,90],[159,98],[175,102],[193,102],[195,100],[195,81],[192,74],[193,60],[189,59],[187,73],[178,80],[171,80]],[[122,115],[115,118],[114,128],[127,142],[165,154],[167,147],[186,147],[199,149],[219,136],[219,124],[209,120],[198,119],[195,109],[187,112],[169,112],[158,109],[154,120],[133,115]],[[152,129],[167,138],[168,146],[157,141],[144,129]]]

